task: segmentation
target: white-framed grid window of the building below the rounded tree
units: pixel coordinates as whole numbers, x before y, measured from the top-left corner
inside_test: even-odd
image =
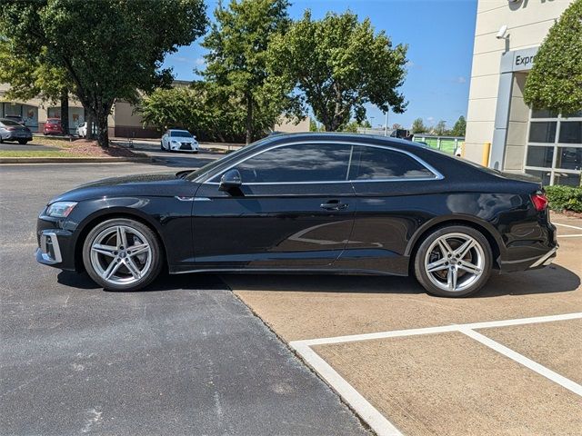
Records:
[[[524,167],[544,184],[580,186],[582,112],[566,116],[532,110]]]

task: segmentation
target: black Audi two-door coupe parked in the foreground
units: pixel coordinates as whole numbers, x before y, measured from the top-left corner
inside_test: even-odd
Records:
[[[117,291],[167,267],[414,274],[457,297],[557,251],[536,179],[358,134],[272,135],[194,171],[88,183],[47,204],[37,235],[38,262]]]

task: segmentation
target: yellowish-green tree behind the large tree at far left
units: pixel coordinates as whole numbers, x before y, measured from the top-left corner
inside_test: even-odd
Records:
[[[51,103],[59,102],[61,114],[68,114],[66,72],[62,68],[42,64],[39,58],[14,53],[11,42],[0,39],[0,83],[10,84],[5,93],[9,99],[29,100],[40,96]],[[63,132],[68,132],[68,116],[61,116]]]

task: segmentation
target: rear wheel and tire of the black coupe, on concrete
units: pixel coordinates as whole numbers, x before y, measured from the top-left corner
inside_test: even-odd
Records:
[[[468,248],[467,248],[468,247]],[[489,279],[493,254],[487,238],[472,227],[450,225],[426,236],[414,259],[416,280],[440,297],[464,297]]]

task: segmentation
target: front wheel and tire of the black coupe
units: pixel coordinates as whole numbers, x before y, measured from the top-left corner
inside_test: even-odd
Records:
[[[138,253],[132,253],[134,247]],[[132,292],[145,288],[156,279],[163,261],[164,253],[156,233],[145,224],[126,218],[98,223],[83,244],[86,272],[109,291]]]

